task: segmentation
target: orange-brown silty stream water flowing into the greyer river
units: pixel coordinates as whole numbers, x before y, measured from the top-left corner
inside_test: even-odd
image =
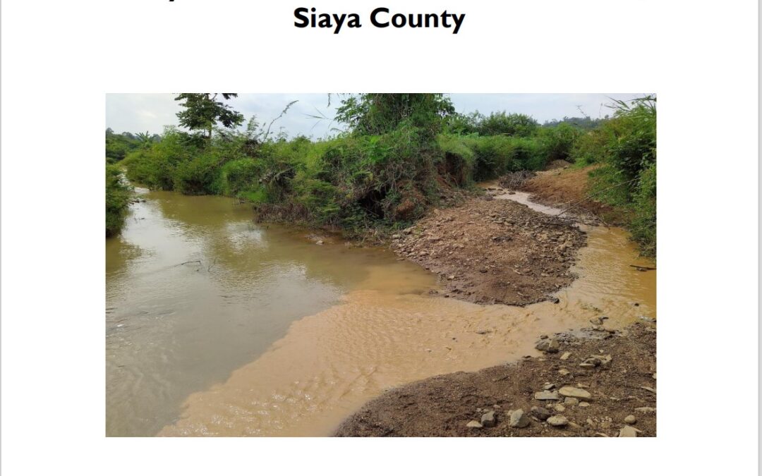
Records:
[[[406,294],[394,283],[413,270],[367,267],[340,303],[294,321],[285,337],[226,382],[190,395],[181,418],[159,434],[326,436],[386,388],[536,353],[539,334],[589,326],[602,314],[610,318],[607,327],[655,317],[655,273],[629,267],[648,261],[626,233],[584,229],[588,247],[574,269],[581,277],[557,294],[558,304],[475,305]],[[421,287],[418,278],[408,280],[405,287]]]

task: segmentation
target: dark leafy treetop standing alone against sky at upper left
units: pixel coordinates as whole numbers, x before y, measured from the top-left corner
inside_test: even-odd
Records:
[[[240,126],[243,114],[228,104],[216,101],[219,94],[225,99],[238,97],[235,93],[181,93],[175,97],[174,101],[185,101],[180,104],[185,109],[178,113],[180,125],[191,130],[205,131],[207,142],[212,140],[212,129],[216,123],[227,128]]]

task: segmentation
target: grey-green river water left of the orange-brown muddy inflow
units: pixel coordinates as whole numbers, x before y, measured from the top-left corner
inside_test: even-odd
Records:
[[[110,436],[154,435],[188,395],[224,382],[373,267],[405,276],[405,292],[434,286],[389,252],[319,246],[304,233],[254,225],[251,208],[231,199],[139,193],[146,201],[106,241]]]

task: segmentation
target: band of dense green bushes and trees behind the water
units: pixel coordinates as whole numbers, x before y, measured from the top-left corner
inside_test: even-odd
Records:
[[[177,99],[184,101],[178,119],[189,133],[168,127],[160,140],[112,145],[114,160],[125,151],[120,165],[136,183],[237,196],[254,203],[262,219],[340,228],[355,237],[391,232],[428,206],[452,203],[475,181],[564,159],[604,164],[595,190],[637,178],[604,200],[632,210],[640,242],[650,239],[652,222],[655,228],[648,212],[653,205],[655,213],[655,165],[648,167],[655,164],[655,133],[649,149],[648,127],[637,119],[646,101],[629,109],[620,104],[613,118],[589,129],[595,122],[589,118],[581,121],[585,126],[575,124],[579,118],[541,126],[517,113],[459,114],[443,94],[345,95],[335,120],[347,130],[312,140],[271,135],[277,118],[266,125],[251,117],[239,129],[242,115],[216,94]]]

